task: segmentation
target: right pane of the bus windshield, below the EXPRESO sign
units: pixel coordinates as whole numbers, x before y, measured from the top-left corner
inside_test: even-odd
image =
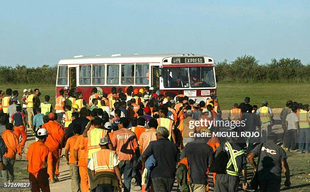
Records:
[[[189,67],[190,87],[215,87],[213,67]]]

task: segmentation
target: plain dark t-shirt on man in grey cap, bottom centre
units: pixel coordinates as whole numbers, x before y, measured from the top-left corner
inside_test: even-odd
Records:
[[[154,155],[157,160],[157,166],[151,170],[151,178],[175,178],[177,148],[169,139],[151,141],[143,155],[147,158]]]

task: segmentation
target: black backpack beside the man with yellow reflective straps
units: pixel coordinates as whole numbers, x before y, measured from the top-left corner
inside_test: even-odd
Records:
[[[226,151],[219,152],[219,154],[214,158],[212,164],[210,165],[210,172],[225,174],[228,160],[229,158]]]

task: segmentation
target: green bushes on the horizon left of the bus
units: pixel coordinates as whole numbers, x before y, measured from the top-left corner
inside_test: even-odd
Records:
[[[57,66],[43,65],[42,67],[29,67],[17,65],[0,66],[0,82],[2,83],[41,83],[56,84]]]

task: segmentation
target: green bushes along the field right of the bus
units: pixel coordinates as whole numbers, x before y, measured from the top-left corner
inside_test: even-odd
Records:
[[[244,55],[235,61],[215,63],[218,81],[310,81],[310,65],[303,65],[299,59],[272,59],[270,63],[259,65],[254,56]]]

